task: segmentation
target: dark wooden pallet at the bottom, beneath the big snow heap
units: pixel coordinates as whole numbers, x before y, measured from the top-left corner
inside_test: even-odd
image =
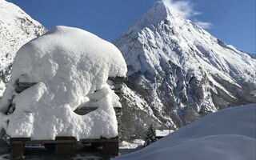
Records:
[[[100,139],[80,139],[74,137],[56,137],[55,140],[31,140],[30,138],[10,138],[10,156],[12,158],[22,158],[26,156],[25,146],[40,144],[46,149],[54,150],[56,156],[74,156],[76,154],[77,143],[90,143],[91,146],[102,146],[99,150],[103,155],[118,155],[118,137]]]

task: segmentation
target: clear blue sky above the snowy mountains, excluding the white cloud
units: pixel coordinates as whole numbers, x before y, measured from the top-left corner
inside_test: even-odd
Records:
[[[156,0],[7,0],[50,29],[75,26],[108,41],[118,38]],[[173,2],[177,2],[174,1]],[[192,21],[209,22],[214,37],[239,50],[256,53],[255,0],[190,0],[201,14]]]

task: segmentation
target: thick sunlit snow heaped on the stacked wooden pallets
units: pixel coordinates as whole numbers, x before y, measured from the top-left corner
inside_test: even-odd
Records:
[[[125,77],[126,71],[122,54],[110,42],[85,30],[54,27],[18,50],[0,104],[3,113],[15,104],[13,114],[2,116],[9,119],[6,133],[32,139],[117,136],[114,106],[121,104],[107,80]],[[36,84],[17,94],[16,82]],[[74,113],[79,106],[98,109],[81,116]]]

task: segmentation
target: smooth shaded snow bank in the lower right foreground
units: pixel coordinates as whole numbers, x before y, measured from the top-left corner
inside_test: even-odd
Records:
[[[256,104],[232,107],[207,115],[150,146],[118,160],[254,160]]]

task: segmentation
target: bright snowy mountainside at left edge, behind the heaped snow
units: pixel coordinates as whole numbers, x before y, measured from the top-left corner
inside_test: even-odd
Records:
[[[0,0],[0,97],[18,49],[46,29],[13,3]]]

